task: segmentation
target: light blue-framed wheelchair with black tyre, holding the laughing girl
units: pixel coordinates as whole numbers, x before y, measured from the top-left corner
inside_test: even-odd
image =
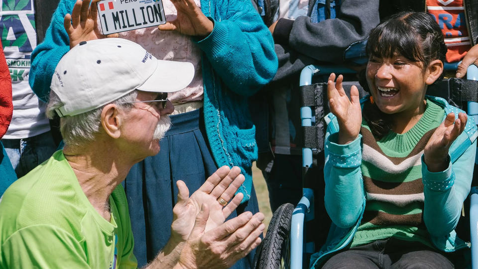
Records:
[[[455,64],[445,64],[445,70],[456,70]],[[307,186],[307,181],[319,181],[322,177],[310,178],[314,166],[323,164],[323,157],[320,153],[323,150],[326,125],[323,121],[328,114],[327,84],[312,84],[314,75],[355,74],[356,71],[342,66],[306,66],[300,74],[301,88],[301,125],[304,131],[304,147],[302,149],[302,182],[303,197],[297,204],[281,205],[273,214],[267,233],[254,257],[255,269],[302,269],[309,268],[310,256],[317,252],[327,236],[329,227],[320,226],[314,220],[327,221],[330,223],[325,208],[323,207],[323,192],[319,194],[317,189]],[[478,125],[478,67],[472,65],[467,71],[467,80],[448,79],[443,80],[439,87],[427,90],[427,95],[438,96],[449,101],[451,105],[465,110],[468,117],[473,117]],[[350,93],[350,87],[354,83],[344,83],[346,92]],[[356,85],[356,84],[354,84]],[[359,85],[357,85],[359,86]],[[362,98],[367,93],[359,88],[359,96]],[[453,90],[451,90],[453,89]],[[315,108],[314,110],[312,108]],[[477,152],[478,155],[478,152]],[[314,158],[314,156],[316,158]],[[478,156],[477,156],[478,157]],[[478,158],[475,165],[478,164]],[[477,167],[477,166],[476,166]],[[314,167],[317,168],[317,167]],[[322,172],[321,167],[318,167]],[[322,167],[323,168],[323,167]],[[476,174],[475,174],[476,173]],[[317,171],[315,173],[317,175]],[[309,179],[310,178],[310,179]],[[477,182],[476,182],[477,180]],[[322,180],[323,182],[323,180]],[[322,183],[319,182],[318,184]],[[317,183],[316,183],[317,184]],[[309,184],[310,185],[310,184]],[[320,185],[323,189],[323,184]],[[319,188],[320,188],[319,187]],[[322,195],[322,196],[319,196]],[[317,200],[314,197],[318,197]],[[321,203],[319,203],[322,201]],[[317,202],[317,203],[316,203]],[[465,201],[464,207],[469,207],[470,212],[464,214],[456,229],[464,232],[459,236],[471,242],[471,265],[468,261],[462,261],[463,268],[478,269],[478,169],[474,170],[474,178],[469,198]],[[321,208],[319,208],[321,207]],[[466,217],[464,217],[466,215]],[[469,219],[469,224],[466,223]],[[466,221],[465,221],[466,220]],[[317,236],[317,230],[322,234]],[[317,242],[317,239],[319,238]],[[467,240],[468,241],[468,240]],[[460,268],[457,266],[457,268]]]

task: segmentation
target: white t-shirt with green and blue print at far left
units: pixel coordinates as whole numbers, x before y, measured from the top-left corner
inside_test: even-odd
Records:
[[[27,138],[48,132],[46,104],[36,97],[28,84],[30,56],[36,47],[33,0],[2,0],[0,33],[13,96],[13,117],[3,139]]]

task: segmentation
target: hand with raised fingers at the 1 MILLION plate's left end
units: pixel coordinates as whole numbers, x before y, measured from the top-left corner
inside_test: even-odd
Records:
[[[70,48],[73,48],[81,41],[101,39],[105,37],[118,37],[118,34],[104,35],[98,27],[98,7],[94,4],[90,6],[91,0],[77,0],[73,11],[65,15],[63,25],[68,37],[70,38]]]

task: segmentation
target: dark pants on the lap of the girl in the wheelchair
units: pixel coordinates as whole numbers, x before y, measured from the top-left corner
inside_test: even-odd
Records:
[[[322,269],[452,269],[445,256],[418,242],[377,240],[330,258]]]

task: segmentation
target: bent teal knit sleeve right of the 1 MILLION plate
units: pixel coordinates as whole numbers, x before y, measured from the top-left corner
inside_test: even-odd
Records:
[[[208,7],[202,9],[208,15]],[[229,1],[228,10],[213,20],[213,31],[198,41],[199,47],[231,90],[253,95],[277,71],[272,35],[250,0]]]

